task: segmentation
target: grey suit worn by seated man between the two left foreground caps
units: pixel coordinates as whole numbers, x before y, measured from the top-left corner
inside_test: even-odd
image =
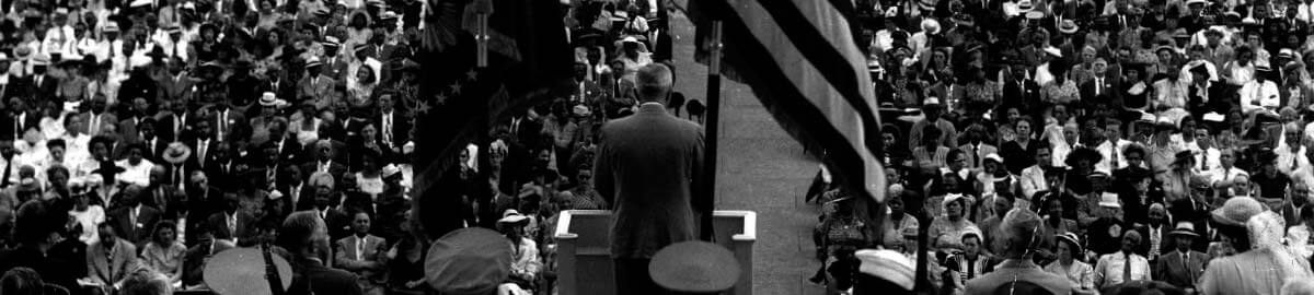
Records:
[[[364,252],[357,256],[357,245],[364,241]],[[364,239],[348,236],[335,244],[338,253],[334,266],[356,274],[363,288],[382,286],[388,282],[388,243],[382,237],[365,235]],[[357,258],[359,257],[359,258]]]

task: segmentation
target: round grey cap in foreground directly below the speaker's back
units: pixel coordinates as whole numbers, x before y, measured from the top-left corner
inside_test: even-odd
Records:
[[[733,287],[742,270],[725,246],[683,241],[653,254],[648,273],[657,286],[670,291],[716,292]]]

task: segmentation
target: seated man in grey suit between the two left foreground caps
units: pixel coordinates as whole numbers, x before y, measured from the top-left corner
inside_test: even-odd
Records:
[[[334,245],[334,253],[338,253],[334,266],[356,274],[356,282],[365,295],[382,295],[388,277],[388,243],[369,235],[369,214],[356,212],[352,216],[352,235]]]

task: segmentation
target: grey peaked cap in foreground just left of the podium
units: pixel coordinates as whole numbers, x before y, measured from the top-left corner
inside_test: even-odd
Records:
[[[506,236],[478,227],[456,229],[428,248],[424,281],[442,294],[491,294],[511,275],[511,257]]]

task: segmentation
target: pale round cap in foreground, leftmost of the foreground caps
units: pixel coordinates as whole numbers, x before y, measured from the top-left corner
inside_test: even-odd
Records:
[[[205,285],[219,295],[271,295],[265,271],[265,256],[260,248],[235,248],[214,254],[205,264],[202,273]],[[292,286],[292,265],[283,256],[269,254],[273,269],[279,271],[283,290]],[[259,283],[252,283],[259,282]],[[281,292],[280,292],[281,294]]]

